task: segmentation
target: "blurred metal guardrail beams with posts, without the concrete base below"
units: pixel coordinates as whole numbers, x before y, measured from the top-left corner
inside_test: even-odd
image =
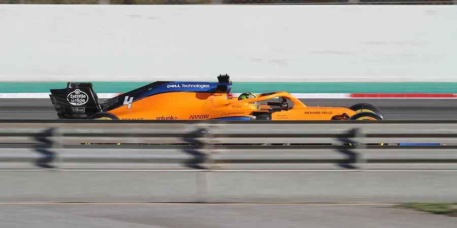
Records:
[[[457,170],[455,143],[457,121],[8,120],[0,169]]]

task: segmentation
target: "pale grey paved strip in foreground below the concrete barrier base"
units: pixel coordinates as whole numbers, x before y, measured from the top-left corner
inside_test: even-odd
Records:
[[[2,204],[8,228],[454,228],[456,217],[393,205]]]

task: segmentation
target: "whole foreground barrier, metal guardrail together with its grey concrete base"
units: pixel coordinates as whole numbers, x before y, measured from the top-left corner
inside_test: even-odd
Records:
[[[456,121],[8,120],[0,142],[0,202],[457,198]]]

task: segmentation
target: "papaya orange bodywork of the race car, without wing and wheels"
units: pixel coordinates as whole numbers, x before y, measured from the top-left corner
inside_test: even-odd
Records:
[[[257,94],[256,98],[238,100],[226,93],[170,92],[146,97],[108,112],[121,120],[209,120],[225,117],[253,117],[253,112],[269,113],[270,106],[260,109],[250,102],[283,97],[293,107],[274,111],[271,120],[331,120],[343,115],[353,116],[357,112],[344,107],[309,107],[287,92]],[[290,104],[289,104],[290,105]]]

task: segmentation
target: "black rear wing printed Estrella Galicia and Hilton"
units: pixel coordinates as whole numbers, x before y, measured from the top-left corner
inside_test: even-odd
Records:
[[[52,105],[59,119],[87,119],[102,111],[92,83],[71,83],[65,89],[51,89]]]

